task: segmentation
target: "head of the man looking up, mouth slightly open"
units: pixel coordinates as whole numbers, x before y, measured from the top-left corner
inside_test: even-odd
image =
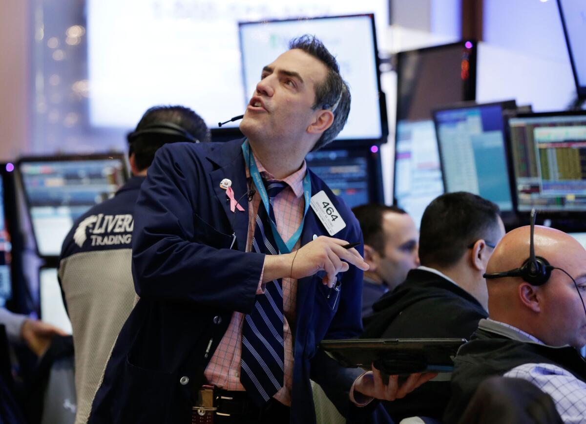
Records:
[[[325,46],[302,36],[290,47],[263,68],[240,123],[260,160],[281,161],[279,168],[297,168],[300,157],[332,141],[350,110],[350,91]]]

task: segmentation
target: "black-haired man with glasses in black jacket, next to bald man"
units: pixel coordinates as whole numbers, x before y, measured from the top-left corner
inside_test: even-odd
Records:
[[[482,274],[505,234],[494,203],[466,192],[444,194],[421,219],[421,266],[374,304],[363,338],[469,338],[487,316]],[[397,402],[386,402],[393,419],[424,415],[440,419],[449,385],[431,382]]]

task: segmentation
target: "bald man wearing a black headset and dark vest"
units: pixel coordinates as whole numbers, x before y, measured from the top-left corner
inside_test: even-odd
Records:
[[[586,423],[584,247],[556,229],[517,228],[496,246],[485,278],[489,318],[458,352],[444,420],[462,422],[478,386],[504,376],[551,396],[564,422]]]

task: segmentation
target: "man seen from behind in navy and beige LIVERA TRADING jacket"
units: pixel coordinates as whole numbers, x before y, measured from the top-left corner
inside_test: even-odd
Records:
[[[77,219],[63,242],[59,283],[73,327],[77,424],[87,420],[112,345],[134,305],[134,205],[147,169],[163,144],[200,141],[210,141],[210,132],[194,111],[149,108],[128,134],[132,177],[114,198]]]

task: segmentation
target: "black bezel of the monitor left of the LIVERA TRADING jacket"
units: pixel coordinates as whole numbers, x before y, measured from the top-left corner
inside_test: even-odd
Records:
[[[26,206],[26,215],[28,216],[29,223],[30,223],[30,231],[33,235],[33,239],[35,239],[35,252],[36,255],[45,259],[47,263],[54,264],[59,259],[59,255],[42,255],[39,250],[39,243],[37,239],[37,235],[35,233],[35,226],[33,225],[32,214],[30,213],[30,199],[29,194],[26,191],[25,183],[22,178],[21,167],[23,164],[27,163],[35,163],[35,162],[73,162],[73,161],[93,161],[93,160],[108,160],[108,159],[118,159],[122,162],[122,175],[124,176],[124,182],[128,180],[128,166],[127,166],[127,155],[121,152],[115,153],[97,153],[97,154],[86,154],[86,155],[53,155],[53,156],[25,156],[19,158],[16,161],[15,171],[18,175],[19,180],[19,188],[22,191],[23,198],[25,199],[25,206]]]

